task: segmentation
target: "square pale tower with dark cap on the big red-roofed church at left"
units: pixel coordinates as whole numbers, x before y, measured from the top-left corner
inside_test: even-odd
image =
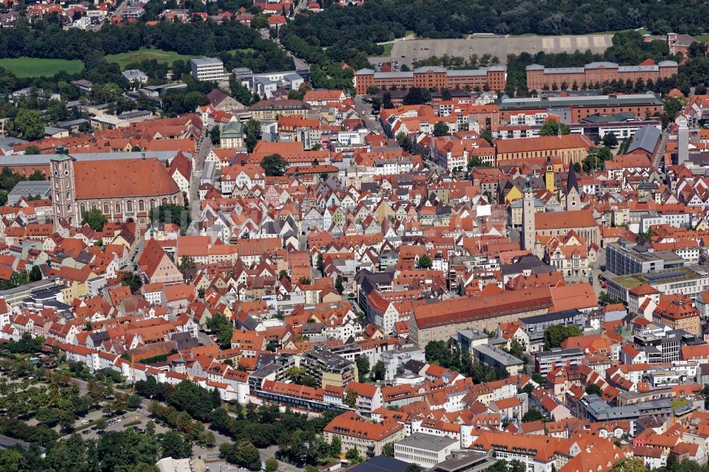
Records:
[[[65,147],[57,147],[57,153],[50,158],[52,181],[52,209],[54,229],[61,221],[77,225],[82,215],[77,214],[76,189],[74,188],[74,158]]]

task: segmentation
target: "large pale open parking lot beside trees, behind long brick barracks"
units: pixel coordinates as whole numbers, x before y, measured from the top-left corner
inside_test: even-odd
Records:
[[[398,60],[411,67],[413,60],[428,59],[442,55],[468,58],[473,54],[478,57],[489,54],[497,56],[505,63],[508,54],[530,52],[604,52],[613,43],[613,35],[579,36],[485,36],[468,39],[437,40],[398,40],[393,43],[391,57],[370,57],[369,62],[390,62]]]

